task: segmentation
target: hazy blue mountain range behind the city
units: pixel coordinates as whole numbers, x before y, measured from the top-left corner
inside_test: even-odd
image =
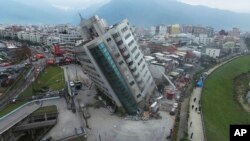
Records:
[[[0,23],[78,24],[78,12],[86,18],[97,14],[110,24],[128,18],[137,26],[180,23],[250,30],[250,14],[192,6],[174,0],[111,0],[100,8],[90,7],[82,11],[65,11],[42,4],[34,7],[8,0],[0,2]]]

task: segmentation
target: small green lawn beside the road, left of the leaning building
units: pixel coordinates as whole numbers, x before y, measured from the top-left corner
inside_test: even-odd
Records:
[[[64,87],[64,72],[58,66],[47,66],[47,68],[40,73],[36,81],[31,84],[21,96],[31,96],[32,89],[39,90],[42,87],[49,87],[51,90],[61,90]]]

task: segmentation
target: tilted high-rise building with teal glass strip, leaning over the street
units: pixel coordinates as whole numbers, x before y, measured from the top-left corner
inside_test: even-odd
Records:
[[[98,16],[82,19],[85,43],[78,57],[95,86],[130,115],[155,89],[128,20],[108,26]]]

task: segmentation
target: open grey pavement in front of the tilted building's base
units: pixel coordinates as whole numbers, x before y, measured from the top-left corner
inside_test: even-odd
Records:
[[[89,141],[163,141],[173,127],[174,118],[160,112],[162,119],[132,121],[110,114],[105,108],[90,108]]]

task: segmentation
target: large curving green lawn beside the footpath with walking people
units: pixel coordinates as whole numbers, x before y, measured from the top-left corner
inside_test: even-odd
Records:
[[[250,114],[233,98],[233,79],[250,70],[249,60],[237,58],[207,78],[201,102],[208,141],[228,141],[230,124],[250,124]]]

